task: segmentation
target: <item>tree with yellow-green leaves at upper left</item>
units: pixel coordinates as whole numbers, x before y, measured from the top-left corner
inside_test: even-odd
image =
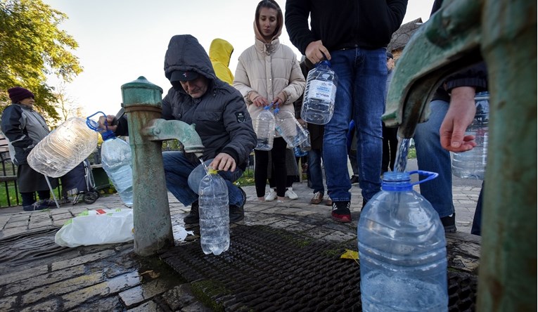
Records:
[[[23,86],[35,94],[39,112],[53,120],[63,117],[46,75],[71,82],[82,72],[70,52],[77,41],[58,29],[66,18],[41,0],[0,0],[0,110],[11,103],[7,89]]]

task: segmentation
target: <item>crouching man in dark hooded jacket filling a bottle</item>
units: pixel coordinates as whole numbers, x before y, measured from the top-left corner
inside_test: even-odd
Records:
[[[243,174],[257,143],[243,96],[217,79],[209,56],[190,34],[170,39],[165,76],[172,88],[162,99],[162,118],[196,124],[205,148],[202,159],[208,167],[219,170],[228,186],[230,221],[243,220],[246,194],[233,182]],[[115,124],[114,116],[109,115],[107,121]],[[99,122],[103,127],[104,118]],[[117,122],[108,129],[118,136],[127,135],[127,119]],[[198,186],[205,175],[200,160],[183,151],[164,152],[162,157],[168,190],[185,206],[191,205],[185,223],[198,223]]]

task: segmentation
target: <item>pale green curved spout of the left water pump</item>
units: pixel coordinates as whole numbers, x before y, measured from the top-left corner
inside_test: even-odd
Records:
[[[196,157],[202,157],[204,146],[195,130],[195,124],[189,125],[179,120],[152,119],[141,132],[149,141],[175,138],[183,144],[185,152],[193,152]]]

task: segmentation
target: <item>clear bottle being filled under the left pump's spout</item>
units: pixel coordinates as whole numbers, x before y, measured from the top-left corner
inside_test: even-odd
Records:
[[[228,188],[217,170],[207,170],[200,181],[198,195],[202,251],[218,256],[230,247],[230,217]]]

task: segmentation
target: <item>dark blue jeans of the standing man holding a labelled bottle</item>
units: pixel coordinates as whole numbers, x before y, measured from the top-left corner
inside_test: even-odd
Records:
[[[385,48],[331,51],[331,68],[338,76],[333,118],[325,125],[324,163],[328,195],[333,202],[351,200],[347,173],[347,131],[357,126],[359,186],[368,201],[381,188],[387,60]]]

